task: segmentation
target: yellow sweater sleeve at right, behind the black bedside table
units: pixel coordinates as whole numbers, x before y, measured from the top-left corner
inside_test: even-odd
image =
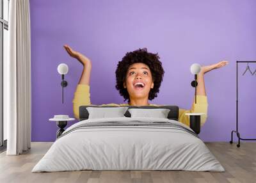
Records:
[[[208,109],[207,97],[204,95],[196,95],[196,104],[194,99],[190,110],[179,109],[179,122],[189,126],[189,116],[185,115],[186,113],[205,113],[205,115],[201,115],[201,127],[202,127],[202,125],[204,125],[207,119],[207,109]]]

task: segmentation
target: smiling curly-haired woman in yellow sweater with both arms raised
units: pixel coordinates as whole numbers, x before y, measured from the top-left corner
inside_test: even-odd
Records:
[[[80,52],[74,51],[68,45],[64,48],[70,56],[76,58],[83,65],[83,72],[73,99],[74,116],[79,118],[79,106],[91,105],[90,102],[90,74],[92,62]],[[189,118],[185,113],[205,113],[201,118],[204,125],[207,118],[207,96],[205,93],[204,74],[227,65],[228,61],[202,66],[198,74],[198,86],[196,87],[196,104],[190,110],[179,109],[179,122],[189,125]],[[127,52],[116,68],[116,89],[128,100],[128,104],[102,104],[102,106],[157,106],[149,104],[148,100],[157,97],[161,82],[163,81],[164,69],[158,54],[153,54],[147,49],[138,49]]]

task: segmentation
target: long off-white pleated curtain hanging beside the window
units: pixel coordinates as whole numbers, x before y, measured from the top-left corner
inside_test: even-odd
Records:
[[[31,147],[31,54],[29,0],[11,0],[8,58],[4,62],[7,155]]]

